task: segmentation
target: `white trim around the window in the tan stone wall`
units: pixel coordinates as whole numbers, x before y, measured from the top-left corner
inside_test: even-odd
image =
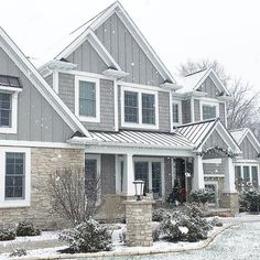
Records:
[[[23,199],[6,199],[6,153],[15,152],[25,154],[25,184]],[[0,208],[30,207],[31,203],[31,149],[30,148],[0,148]]]

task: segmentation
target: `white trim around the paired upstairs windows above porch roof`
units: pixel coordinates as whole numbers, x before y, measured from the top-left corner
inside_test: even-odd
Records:
[[[132,91],[138,94],[138,119],[139,122],[124,122],[124,91]],[[142,94],[154,95],[155,106],[155,124],[142,123]],[[140,129],[159,129],[159,101],[158,91],[137,89],[133,87],[121,86],[121,126],[126,128],[140,128]]]

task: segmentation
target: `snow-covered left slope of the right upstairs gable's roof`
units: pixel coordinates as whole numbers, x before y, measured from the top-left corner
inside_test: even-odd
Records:
[[[208,68],[209,69],[209,68]],[[202,78],[208,73],[208,69],[199,71],[197,73],[189,74],[185,77],[180,77],[177,83],[183,86],[177,93],[191,93],[195,90]]]

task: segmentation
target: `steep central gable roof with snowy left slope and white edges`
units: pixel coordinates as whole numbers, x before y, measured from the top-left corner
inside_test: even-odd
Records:
[[[124,26],[129,30],[129,32],[134,37],[137,43],[142,47],[143,52],[148,55],[151,63],[154,65],[158,72],[162,75],[163,79],[165,82],[176,83],[173,76],[171,75],[171,73],[166,69],[165,65],[159,58],[154,50],[150,46],[145,37],[139,31],[139,29],[137,28],[132,19],[126,12],[121,3],[118,1],[112,3],[102,12],[100,12],[98,15],[96,15],[94,19],[91,19],[90,21],[83,24],[82,26],[76,29],[74,32],[72,32],[68,35],[68,37],[65,39],[63,43],[61,44],[58,52],[54,54],[54,56],[52,56],[51,58],[54,58],[54,59],[66,58],[66,56],[68,56],[73,51],[75,51],[76,47],[79,46],[86,40],[88,35],[91,35],[91,37],[95,39],[96,41],[95,46],[99,46],[100,50],[106,52],[105,46],[100,43],[100,41],[97,37],[95,37],[94,31],[100,24],[102,24],[108,18],[110,18],[113,13],[117,13],[117,15],[121,19]],[[110,61],[112,61],[113,66],[118,71],[121,72],[120,66],[112,59],[112,57],[110,57]]]

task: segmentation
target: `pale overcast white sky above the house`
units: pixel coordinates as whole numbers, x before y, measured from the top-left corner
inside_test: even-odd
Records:
[[[0,25],[28,56],[96,15],[112,0],[1,0]],[[259,0],[121,0],[166,67],[217,59],[260,90]]]

